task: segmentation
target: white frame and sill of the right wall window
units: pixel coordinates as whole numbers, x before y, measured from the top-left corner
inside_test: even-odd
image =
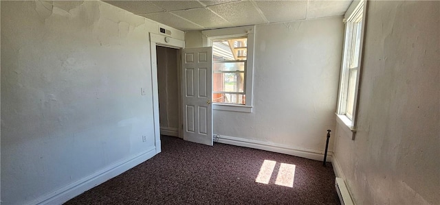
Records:
[[[353,1],[349,6],[346,14],[344,15],[344,45],[342,51],[341,61],[341,73],[340,73],[340,85],[338,93],[338,108],[337,108],[337,121],[344,125],[343,128],[351,131],[352,140],[354,140],[356,133],[356,119],[358,116],[358,102],[360,93],[360,79],[362,74],[362,56],[364,50],[364,34],[366,27],[366,6],[367,1]],[[361,23],[360,28],[356,27],[356,23]],[[359,30],[360,29],[360,30]],[[354,37],[357,35],[355,32],[360,33],[359,45],[353,45],[355,43]],[[357,58],[353,58],[353,53],[358,52]],[[353,66],[352,62],[357,64]],[[349,100],[349,86],[351,71],[356,71],[355,76],[355,88],[353,99],[353,110],[351,114],[347,114],[348,100]]]

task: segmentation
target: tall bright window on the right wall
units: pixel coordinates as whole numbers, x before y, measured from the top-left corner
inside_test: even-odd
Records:
[[[355,132],[355,114],[364,36],[364,1],[353,1],[345,14],[344,51],[338,97],[338,118]]]

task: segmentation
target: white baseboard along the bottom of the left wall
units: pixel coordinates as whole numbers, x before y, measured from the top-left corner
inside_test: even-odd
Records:
[[[62,187],[52,193],[43,195],[36,200],[32,200],[27,204],[63,204],[68,200],[84,193],[85,191],[106,182],[107,180],[114,178],[115,176],[124,173],[136,165],[152,158],[156,154],[155,146],[149,147],[145,152],[137,154],[133,157],[126,158],[120,162],[116,162],[113,165],[105,167],[96,173],[93,173],[85,178],[82,178],[72,184]]]

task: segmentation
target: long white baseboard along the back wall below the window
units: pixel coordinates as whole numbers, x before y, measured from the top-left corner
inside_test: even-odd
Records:
[[[254,149],[263,149],[270,152],[277,152],[281,154],[289,154],[292,156],[299,156],[303,158],[308,158],[311,160],[322,161],[324,159],[324,151],[316,149],[305,149],[298,147],[288,147],[286,145],[267,143],[263,141],[250,140],[246,138],[239,138],[234,136],[220,135],[218,143],[236,145],[240,147],[250,147]],[[331,156],[333,152],[327,153],[327,162],[331,162]]]

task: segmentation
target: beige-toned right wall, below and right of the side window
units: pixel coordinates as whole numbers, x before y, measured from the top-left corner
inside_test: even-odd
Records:
[[[369,1],[355,140],[336,161],[357,204],[440,202],[440,1]]]

